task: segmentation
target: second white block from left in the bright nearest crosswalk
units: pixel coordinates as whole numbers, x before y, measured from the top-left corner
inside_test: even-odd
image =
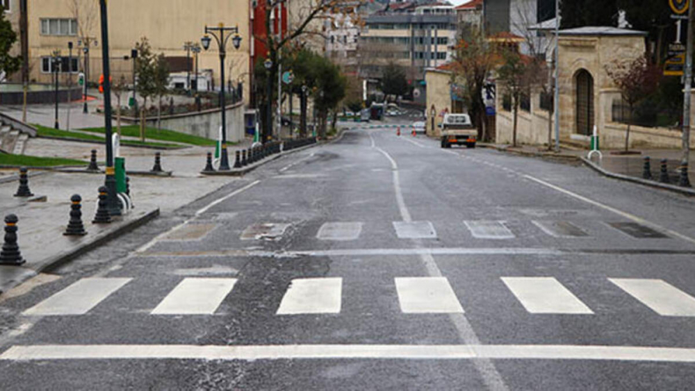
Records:
[[[183,278],[152,315],[211,315],[236,283],[236,278]]]

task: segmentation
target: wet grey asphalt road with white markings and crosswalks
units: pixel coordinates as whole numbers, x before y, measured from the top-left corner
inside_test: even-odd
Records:
[[[694,217],[348,131],[0,297],[0,389],[692,389]]]

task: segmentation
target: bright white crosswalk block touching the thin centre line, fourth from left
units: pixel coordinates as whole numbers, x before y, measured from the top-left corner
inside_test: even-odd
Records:
[[[403,313],[463,313],[445,277],[398,277],[395,289]]]

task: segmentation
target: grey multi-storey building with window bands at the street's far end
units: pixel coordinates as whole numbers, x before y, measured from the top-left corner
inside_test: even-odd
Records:
[[[359,39],[359,72],[380,78],[389,63],[407,69],[410,81],[422,81],[428,67],[447,63],[457,33],[453,6],[432,3],[398,3],[366,18]]]

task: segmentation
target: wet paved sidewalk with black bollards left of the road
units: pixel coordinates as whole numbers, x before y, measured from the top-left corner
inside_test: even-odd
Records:
[[[35,141],[35,140],[32,140]],[[53,143],[59,144],[53,144]],[[40,145],[39,145],[40,144]],[[34,144],[33,152],[44,156],[60,153],[60,156],[83,158],[89,155],[92,145],[55,140],[41,140]],[[104,154],[100,149],[99,160]],[[0,183],[0,219],[13,213],[19,217],[17,224],[19,249],[26,263],[21,267],[0,265],[0,292],[30,278],[61,257],[85,245],[103,240],[118,230],[130,231],[161,213],[173,210],[213,192],[236,178],[227,176],[202,177],[199,171],[205,165],[208,149],[194,147],[176,154],[163,154],[165,170],[173,170],[174,176],[131,176],[131,197],[135,208],[119,222],[106,225],[92,224],[97,206],[97,189],[104,184],[104,174],[48,172],[29,178],[29,188],[35,195],[45,195],[46,202],[26,202],[13,197],[17,181]],[[148,171],[154,163],[154,152],[142,149],[123,149],[129,169]],[[16,169],[2,169],[2,177],[15,174]],[[31,170],[31,172],[38,172]],[[88,235],[67,237],[63,235],[70,218],[70,197],[82,197],[82,219]]]

